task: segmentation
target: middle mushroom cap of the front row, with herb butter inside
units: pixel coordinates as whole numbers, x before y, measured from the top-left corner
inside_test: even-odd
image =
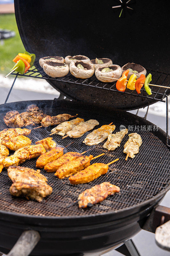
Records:
[[[77,68],[78,64],[82,65],[84,69]],[[91,64],[81,60],[72,61],[70,63],[70,73],[77,78],[89,78],[94,74],[94,68]]]

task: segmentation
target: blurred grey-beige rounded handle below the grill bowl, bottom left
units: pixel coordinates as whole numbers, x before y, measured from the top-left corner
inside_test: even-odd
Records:
[[[24,231],[7,256],[28,256],[39,240],[40,234],[37,231]]]

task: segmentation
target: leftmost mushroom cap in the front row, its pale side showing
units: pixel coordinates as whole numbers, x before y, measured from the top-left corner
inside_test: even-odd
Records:
[[[43,69],[51,77],[61,77],[69,73],[69,66],[61,62],[46,61],[43,64]]]

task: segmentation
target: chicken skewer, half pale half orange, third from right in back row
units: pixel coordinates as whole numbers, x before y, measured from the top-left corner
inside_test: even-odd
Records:
[[[89,133],[83,143],[88,146],[97,145],[103,140],[106,140],[108,135],[111,134],[115,128],[115,125],[102,125],[100,128]]]

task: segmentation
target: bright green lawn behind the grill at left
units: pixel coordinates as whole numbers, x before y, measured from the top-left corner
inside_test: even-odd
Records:
[[[0,45],[0,73],[8,74],[14,66],[12,61],[18,52],[24,52],[25,48],[19,36],[15,14],[1,14],[0,28],[15,31],[16,36],[5,39],[4,44]]]

